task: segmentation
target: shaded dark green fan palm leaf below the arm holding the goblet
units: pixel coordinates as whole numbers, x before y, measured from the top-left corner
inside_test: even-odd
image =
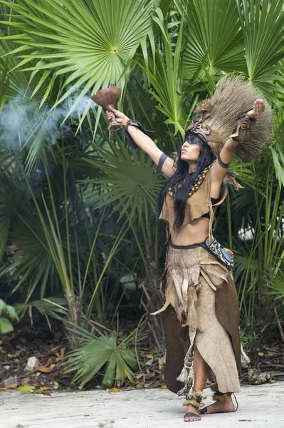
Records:
[[[104,185],[104,192],[92,198],[90,202],[99,202],[97,208],[117,203],[115,210],[120,212],[119,221],[125,213],[130,220],[138,218],[139,223],[149,225],[149,218],[156,210],[156,201],[161,180],[158,180],[156,165],[150,158],[145,161],[142,151],[127,151],[122,144],[120,148],[111,145],[113,153],[98,150],[98,160],[86,159],[86,162],[100,168],[105,176],[83,183]]]

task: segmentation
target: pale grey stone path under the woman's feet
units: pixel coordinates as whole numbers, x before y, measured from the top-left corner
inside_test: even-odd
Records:
[[[204,416],[194,427],[284,428],[284,382],[242,387],[237,398],[238,412]],[[0,393],[1,428],[182,428],[183,412],[167,389]]]

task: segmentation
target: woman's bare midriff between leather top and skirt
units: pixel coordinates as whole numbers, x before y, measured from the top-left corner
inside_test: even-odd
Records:
[[[182,226],[178,235],[174,233],[173,226],[169,225],[169,233],[174,245],[203,243],[209,235],[209,218],[196,218],[192,223]]]

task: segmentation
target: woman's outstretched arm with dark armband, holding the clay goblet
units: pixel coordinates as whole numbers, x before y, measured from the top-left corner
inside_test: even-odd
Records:
[[[127,121],[129,121],[129,118],[127,118],[127,116],[125,116],[121,111],[116,110],[115,108],[110,108],[110,110],[115,114],[116,121],[122,123],[123,126],[125,126]],[[111,113],[107,111],[106,116],[110,121]],[[169,158],[169,156],[162,152],[162,150],[156,146],[152,138],[149,138],[146,134],[140,131],[140,129],[136,128],[136,126],[129,125],[127,131],[137,146],[147,153],[152,161],[162,169],[162,173],[167,175],[167,177],[170,177],[174,173],[173,159]]]

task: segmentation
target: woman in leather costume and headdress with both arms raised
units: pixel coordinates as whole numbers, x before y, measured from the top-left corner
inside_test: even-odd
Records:
[[[243,153],[247,153],[247,144],[252,140],[252,124],[256,125],[256,118],[263,115],[267,107],[265,101],[254,98],[253,108],[237,122],[236,111],[229,112],[228,120],[235,118],[236,126],[235,129],[231,126],[233,133],[231,136],[227,134],[226,142],[220,143],[226,129],[223,130],[218,114],[220,116],[224,112],[216,115],[214,107],[218,105],[222,110],[220,92],[222,99],[226,98],[227,106],[230,98],[233,102],[239,86],[246,92],[247,84],[243,81],[224,79],[215,98],[199,105],[199,116],[186,129],[176,161],[159,150],[140,123],[137,125],[136,121],[111,108],[117,122],[125,127],[132,146],[133,143],[139,146],[169,178],[158,201],[159,218],[167,220],[170,235],[166,259],[166,302],[154,315],[164,311],[167,342],[165,382],[172,392],[185,395],[185,422],[199,421],[200,414],[233,412],[235,407],[231,394],[240,391],[238,298],[228,267],[233,264],[233,254],[221,249],[220,259],[209,249],[209,245],[215,242],[212,226],[216,210],[226,198],[225,181],[227,178],[228,182],[227,172],[233,152],[242,141],[245,142]],[[250,106],[251,97],[255,95],[253,90],[245,100]],[[243,104],[237,110],[240,108]],[[109,112],[107,118],[111,119]],[[269,121],[268,114],[264,127]],[[221,150],[218,150],[220,145]],[[216,402],[200,409],[204,405],[202,399],[206,396],[203,389],[210,371],[216,379]]]

